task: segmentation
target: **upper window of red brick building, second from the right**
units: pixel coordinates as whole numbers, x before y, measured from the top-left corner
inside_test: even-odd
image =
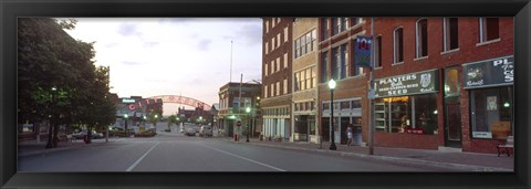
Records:
[[[442,50],[449,51],[459,48],[459,25],[457,18],[442,19]]]

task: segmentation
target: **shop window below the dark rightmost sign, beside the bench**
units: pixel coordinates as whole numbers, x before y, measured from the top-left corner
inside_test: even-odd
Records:
[[[471,91],[473,138],[504,139],[512,135],[512,87]]]

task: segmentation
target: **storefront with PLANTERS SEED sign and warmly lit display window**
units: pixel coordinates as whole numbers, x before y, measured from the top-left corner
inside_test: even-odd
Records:
[[[375,144],[437,149],[439,71],[375,80]]]

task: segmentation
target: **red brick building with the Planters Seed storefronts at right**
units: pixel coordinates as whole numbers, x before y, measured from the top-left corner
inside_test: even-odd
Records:
[[[375,146],[496,153],[512,135],[512,18],[375,18],[374,36]]]

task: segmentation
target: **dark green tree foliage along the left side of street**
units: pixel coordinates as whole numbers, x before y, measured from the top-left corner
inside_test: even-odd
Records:
[[[64,31],[74,29],[76,21],[18,21],[19,123],[51,117],[55,140],[59,125],[111,124],[115,109],[108,93],[108,70],[94,65],[94,42],[77,41]]]

